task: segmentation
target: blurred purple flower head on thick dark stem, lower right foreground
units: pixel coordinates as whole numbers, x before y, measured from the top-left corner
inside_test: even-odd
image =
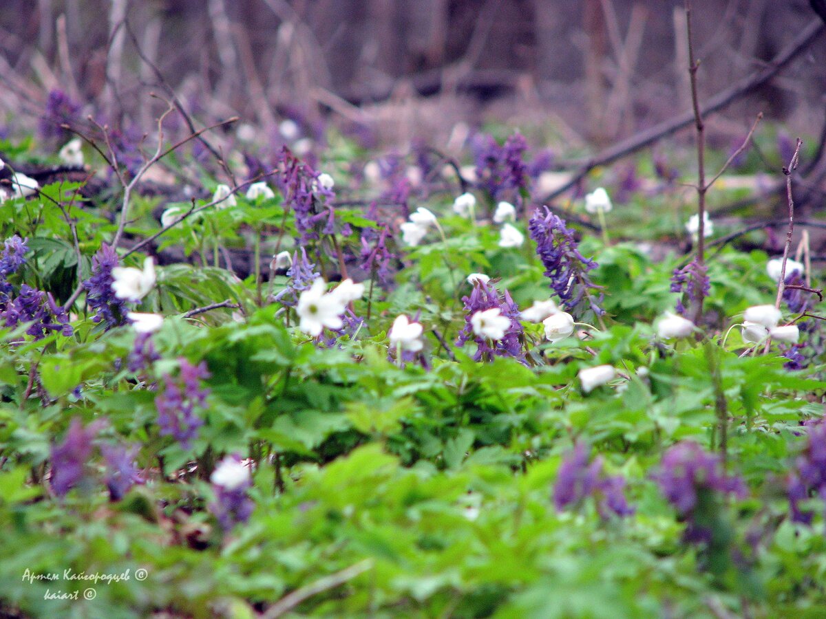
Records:
[[[740,499],[746,496],[743,480],[726,475],[719,456],[691,441],[668,449],[653,479],[686,521],[686,541],[711,541],[716,495],[734,494]]]

